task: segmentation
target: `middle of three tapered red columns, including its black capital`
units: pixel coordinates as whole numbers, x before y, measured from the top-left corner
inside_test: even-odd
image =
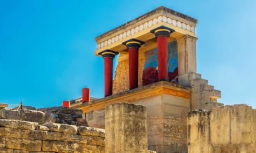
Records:
[[[129,52],[129,87],[130,90],[138,87],[139,48],[144,42],[131,39],[122,43]]]

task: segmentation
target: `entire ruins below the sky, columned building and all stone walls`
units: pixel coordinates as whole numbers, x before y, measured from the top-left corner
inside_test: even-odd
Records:
[[[0,152],[256,152],[256,110],[219,103],[196,72],[197,23],[159,7],[96,37],[105,97],[1,104]]]

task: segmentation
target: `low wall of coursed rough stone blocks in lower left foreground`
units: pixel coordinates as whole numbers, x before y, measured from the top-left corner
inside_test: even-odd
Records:
[[[105,130],[0,119],[0,152],[105,152]]]

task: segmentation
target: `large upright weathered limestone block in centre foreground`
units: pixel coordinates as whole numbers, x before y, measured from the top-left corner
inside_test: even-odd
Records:
[[[146,107],[133,103],[106,106],[106,152],[147,152]]]

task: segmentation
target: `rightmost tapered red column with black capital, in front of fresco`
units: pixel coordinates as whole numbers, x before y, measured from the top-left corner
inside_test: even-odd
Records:
[[[158,81],[168,81],[168,37],[174,30],[161,26],[150,32],[157,37]]]

